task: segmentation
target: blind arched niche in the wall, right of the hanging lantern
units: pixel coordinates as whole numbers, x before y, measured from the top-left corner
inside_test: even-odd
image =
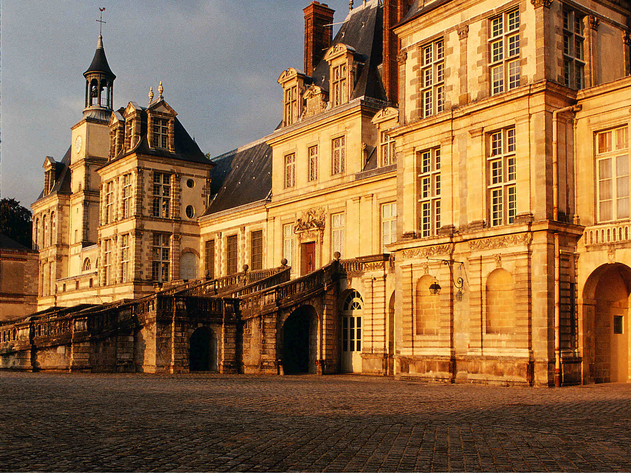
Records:
[[[487,277],[487,334],[514,334],[516,324],[515,291],[510,273],[495,269]]]

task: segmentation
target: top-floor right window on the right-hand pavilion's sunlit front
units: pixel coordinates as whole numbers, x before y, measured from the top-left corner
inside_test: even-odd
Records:
[[[519,9],[490,20],[490,74],[492,95],[519,87]]]

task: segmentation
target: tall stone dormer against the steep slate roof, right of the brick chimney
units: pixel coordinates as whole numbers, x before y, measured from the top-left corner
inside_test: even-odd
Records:
[[[359,76],[358,70],[363,66],[360,55],[352,46],[338,43],[329,48],[324,61],[329,63],[331,107],[348,103]]]

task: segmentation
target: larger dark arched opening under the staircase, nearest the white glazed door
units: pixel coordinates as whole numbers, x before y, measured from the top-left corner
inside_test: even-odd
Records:
[[[317,313],[310,305],[297,308],[285,320],[281,358],[285,374],[315,373],[317,324]]]

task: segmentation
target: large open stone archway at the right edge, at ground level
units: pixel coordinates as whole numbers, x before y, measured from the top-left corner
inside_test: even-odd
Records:
[[[606,264],[587,279],[584,302],[593,303],[593,318],[586,318],[586,355],[595,383],[629,380],[629,320],[631,269]]]

